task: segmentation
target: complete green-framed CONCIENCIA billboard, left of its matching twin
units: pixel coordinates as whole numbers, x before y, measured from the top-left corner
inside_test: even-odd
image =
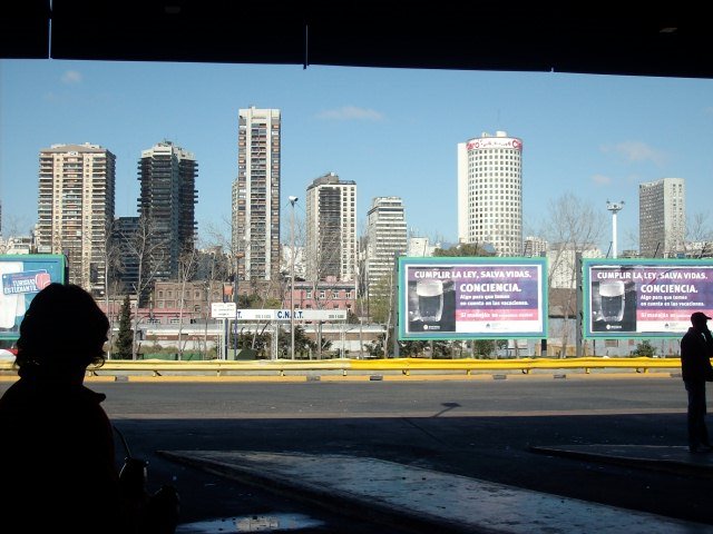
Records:
[[[547,337],[545,258],[399,258],[399,339]]]

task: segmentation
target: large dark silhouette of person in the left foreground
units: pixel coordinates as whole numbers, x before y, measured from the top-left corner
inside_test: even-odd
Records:
[[[108,329],[79,286],[50,284],[30,303],[20,378],[0,398],[3,533],[147,532],[139,523],[148,496],[131,500],[119,481],[106,396],[84,385],[87,366],[104,362]]]

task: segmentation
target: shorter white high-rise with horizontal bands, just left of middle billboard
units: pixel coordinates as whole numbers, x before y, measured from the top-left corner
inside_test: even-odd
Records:
[[[367,212],[367,280],[369,296],[383,295],[395,258],[408,248],[406,214],[400,197],[377,197]]]

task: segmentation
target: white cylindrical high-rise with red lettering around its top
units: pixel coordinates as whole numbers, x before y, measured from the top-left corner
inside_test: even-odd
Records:
[[[522,251],[522,141],[505,131],[458,144],[458,240]]]

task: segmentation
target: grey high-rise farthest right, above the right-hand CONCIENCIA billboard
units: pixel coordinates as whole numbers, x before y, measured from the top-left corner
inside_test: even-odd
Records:
[[[684,251],[686,188],[683,178],[638,185],[638,248],[642,258],[671,258]]]

